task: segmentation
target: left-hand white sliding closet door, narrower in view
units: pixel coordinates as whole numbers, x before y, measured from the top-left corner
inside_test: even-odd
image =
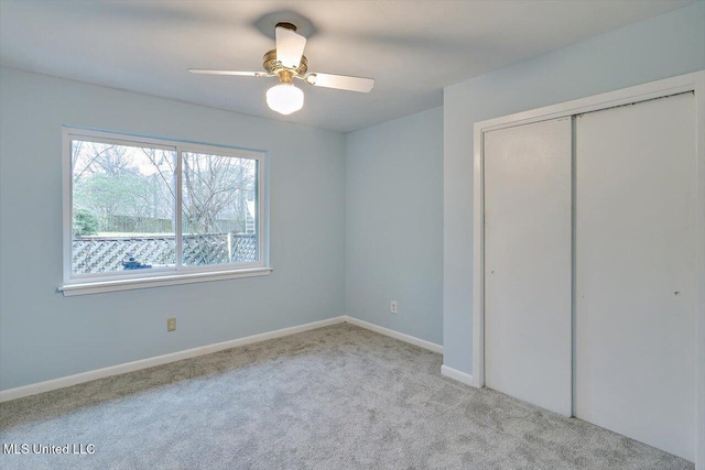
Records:
[[[571,119],[485,133],[485,382],[571,415]]]

